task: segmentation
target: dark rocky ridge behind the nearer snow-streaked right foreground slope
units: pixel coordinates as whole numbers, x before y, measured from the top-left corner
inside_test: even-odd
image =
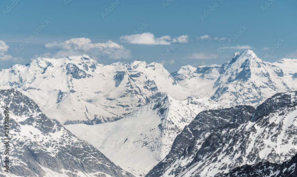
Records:
[[[210,133],[226,125],[249,121],[254,110],[251,106],[238,106],[200,112],[176,137],[165,159],[159,162],[146,176],[178,175],[189,165],[193,158],[192,155],[198,151]]]

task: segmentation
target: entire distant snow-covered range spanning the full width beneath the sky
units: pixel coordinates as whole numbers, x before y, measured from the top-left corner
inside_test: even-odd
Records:
[[[296,63],[263,62],[247,50],[222,66],[186,65],[170,74],[156,62],[101,65],[88,56],[39,57],[0,70],[0,88],[17,88],[61,123],[92,125],[119,120],[165,94],[180,101],[207,96],[226,107],[256,106],[273,94],[297,89]]]

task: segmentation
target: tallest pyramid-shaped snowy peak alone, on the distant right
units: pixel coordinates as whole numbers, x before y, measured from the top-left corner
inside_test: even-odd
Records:
[[[211,99],[226,106],[256,106],[274,94],[291,90],[283,81],[282,70],[263,62],[251,50],[234,54],[214,88]]]

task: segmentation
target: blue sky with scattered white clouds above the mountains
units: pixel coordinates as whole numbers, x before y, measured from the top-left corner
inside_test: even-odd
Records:
[[[170,72],[223,64],[246,49],[268,62],[297,58],[296,7],[296,0],[2,0],[0,67],[79,54],[102,64],[162,62]]]

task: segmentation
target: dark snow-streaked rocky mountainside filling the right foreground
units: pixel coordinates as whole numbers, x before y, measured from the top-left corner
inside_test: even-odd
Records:
[[[297,154],[296,94],[278,94],[254,113],[246,111],[247,117],[239,119],[239,123],[233,120],[215,129],[200,131],[205,126],[197,117],[200,115],[201,120],[205,118],[209,122],[208,112],[200,113],[176,137],[170,153],[147,176],[219,176],[243,165],[289,161]],[[242,116],[242,113],[236,115]],[[210,120],[217,121],[220,117],[224,119],[222,115],[212,114]],[[255,122],[249,121],[253,117],[257,117]]]

